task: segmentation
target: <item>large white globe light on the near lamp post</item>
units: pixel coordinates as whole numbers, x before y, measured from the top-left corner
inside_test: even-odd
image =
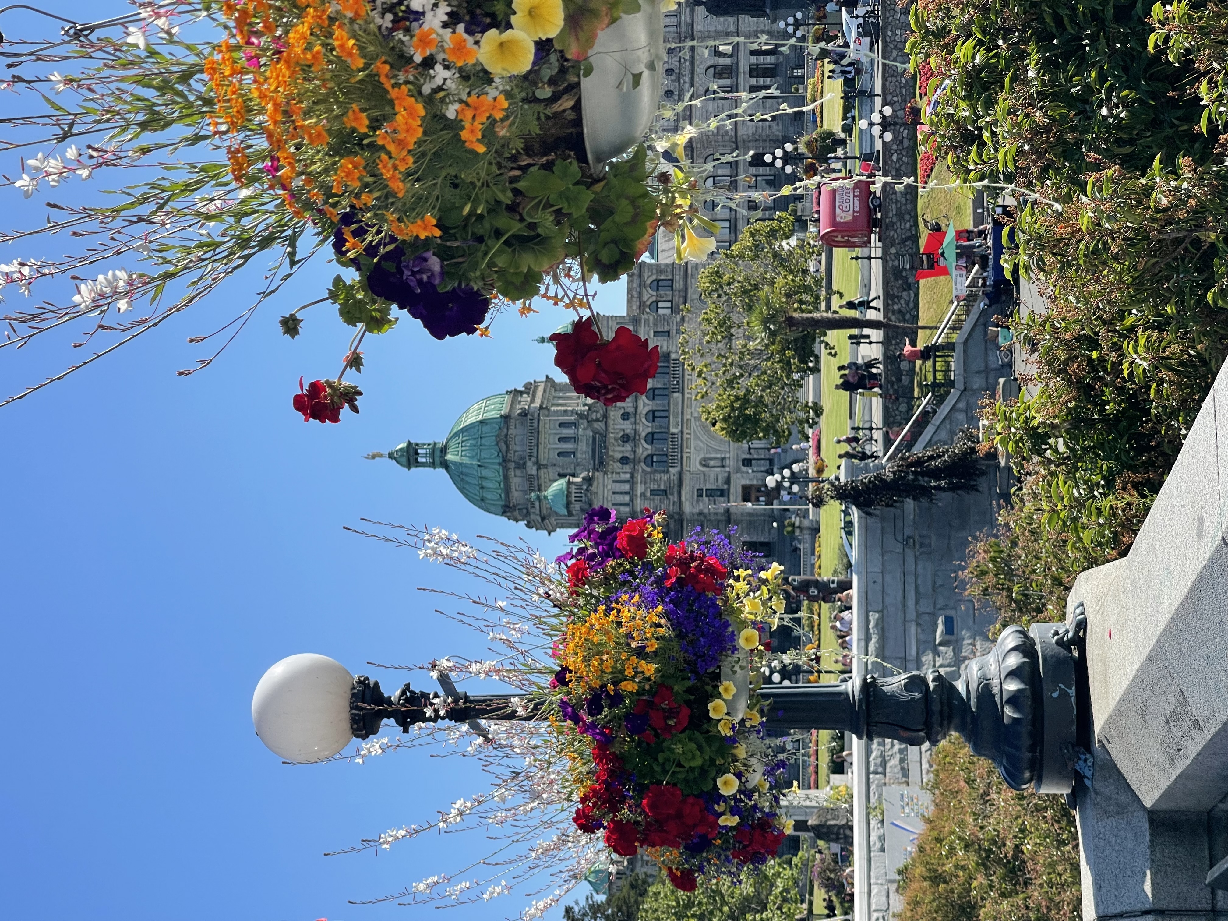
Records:
[[[264,673],[252,695],[252,723],[260,742],[287,761],[323,761],[345,748],[350,733],[350,689],[345,666],[314,652],[281,659]]]

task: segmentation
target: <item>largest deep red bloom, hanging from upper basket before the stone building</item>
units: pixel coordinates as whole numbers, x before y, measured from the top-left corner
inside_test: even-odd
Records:
[[[632,393],[647,393],[661,362],[661,349],[650,349],[648,340],[629,327],[619,327],[613,339],[602,341],[588,317],[576,321],[570,333],[555,333],[550,341],[554,363],[572,389],[607,406],[623,403]]]

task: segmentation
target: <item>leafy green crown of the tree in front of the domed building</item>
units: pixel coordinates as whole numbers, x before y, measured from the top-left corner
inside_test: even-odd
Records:
[[[793,219],[782,214],[752,223],[700,273],[706,307],[680,346],[700,415],[723,437],[781,445],[818,421],[822,408],[799,392],[819,370],[823,333],[792,330],[787,317],[819,309],[823,276],[809,266],[822,253],[817,238],[795,239]]]

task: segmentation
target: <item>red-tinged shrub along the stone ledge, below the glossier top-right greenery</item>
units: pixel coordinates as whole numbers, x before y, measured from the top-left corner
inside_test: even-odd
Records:
[[[1110,171],[1086,190],[1020,220],[1052,290],[1014,322],[1036,391],[990,421],[1020,485],[965,573],[1003,623],[1061,619],[1074,577],[1130,549],[1228,354],[1228,169]]]

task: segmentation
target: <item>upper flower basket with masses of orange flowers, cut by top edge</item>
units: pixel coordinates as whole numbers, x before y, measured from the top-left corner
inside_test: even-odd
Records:
[[[496,312],[527,313],[539,293],[589,309],[588,284],[625,275],[658,226],[685,219],[694,233],[701,220],[694,177],[662,169],[640,144],[656,114],[666,4],[225,0],[171,5],[122,41],[84,29],[77,48],[45,58],[86,65],[53,75],[81,104],[4,123],[106,141],[28,157],[32,174],[16,185],[29,196],[74,173],[156,166],[120,206],[60,209],[64,227],[107,239],[69,269],[136,253],[154,270],[99,275],[79,285],[77,307],[14,318],[31,336],[87,316],[102,332],[142,334],[263,252],[278,268],[257,303],[323,249],[355,274],[280,319],[295,338],[306,311],[329,301],[355,329],[341,373],[316,382],[328,405],[298,394],[305,419],[323,422],[356,409],[356,388],[340,384],[361,370],[363,338],[405,317],[447,339],[489,335]],[[205,22],[196,33],[211,22],[217,41],[177,37],[188,17]],[[66,274],[38,259],[0,271],[23,290]],[[115,316],[142,300],[149,314]],[[625,336],[607,332],[625,352]]]

